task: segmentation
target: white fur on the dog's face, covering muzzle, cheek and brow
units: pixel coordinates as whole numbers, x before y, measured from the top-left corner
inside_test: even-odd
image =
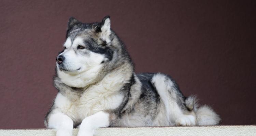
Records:
[[[65,46],[70,43],[69,40],[70,38],[66,40]],[[65,68],[69,71],[59,70],[59,65],[57,64],[57,73],[61,81],[68,86],[86,87],[88,84],[93,83],[99,73],[104,55],[91,51],[86,56],[76,54],[75,49],[70,48],[77,48],[78,45],[83,45],[81,37],[75,38],[72,46],[60,54],[65,57]]]

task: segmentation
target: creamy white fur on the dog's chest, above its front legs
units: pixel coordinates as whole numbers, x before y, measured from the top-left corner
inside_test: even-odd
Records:
[[[123,100],[123,95],[117,91],[130,79],[130,77],[123,76],[123,73],[126,72],[125,70],[115,70],[108,73],[102,81],[87,88],[81,97],[67,94],[67,96],[72,96],[72,98],[68,98],[59,93],[55,99],[55,105],[77,122],[97,112],[115,109]]]

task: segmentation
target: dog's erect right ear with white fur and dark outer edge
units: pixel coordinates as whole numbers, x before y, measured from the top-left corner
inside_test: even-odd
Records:
[[[105,16],[100,23],[100,38],[106,41],[106,43],[111,42],[111,30],[110,30],[110,16]]]

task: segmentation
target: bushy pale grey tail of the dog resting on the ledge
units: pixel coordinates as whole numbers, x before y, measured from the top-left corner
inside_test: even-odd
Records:
[[[190,111],[196,114],[197,125],[217,125],[221,118],[210,106],[198,106],[195,96],[186,98],[185,104]]]

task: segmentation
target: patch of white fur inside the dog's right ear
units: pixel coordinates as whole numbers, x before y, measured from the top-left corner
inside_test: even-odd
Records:
[[[106,43],[110,43],[111,39],[110,39],[110,35],[111,35],[111,30],[110,30],[110,19],[107,18],[103,24],[103,26],[101,27],[101,34],[100,34],[100,38],[105,40]]]

